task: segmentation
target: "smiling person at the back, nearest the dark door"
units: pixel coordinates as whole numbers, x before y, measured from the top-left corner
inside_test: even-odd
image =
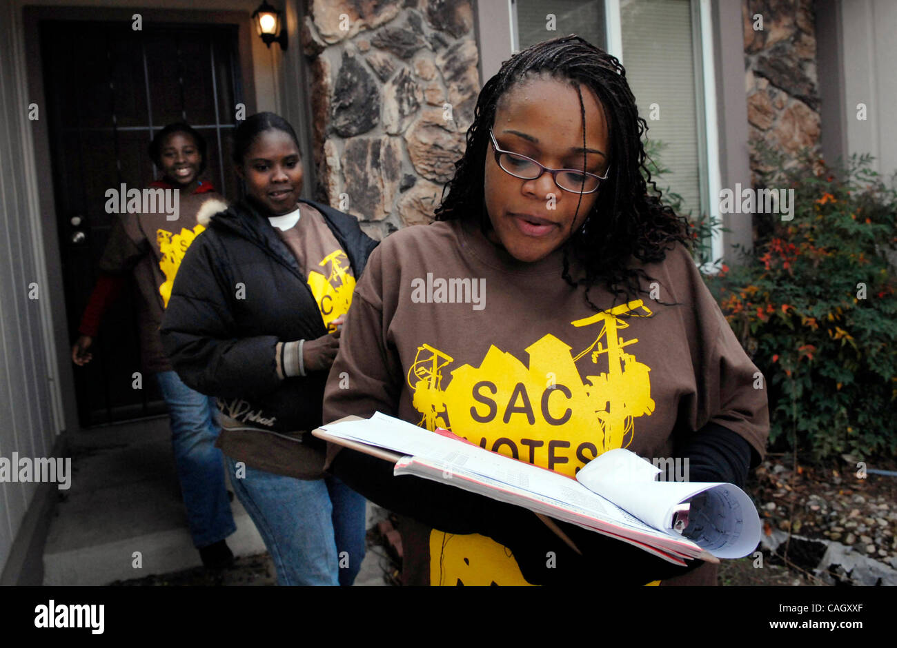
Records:
[[[215,405],[207,396],[183,384],[171,367],[159,340],[162,312],[187,247],[205,229],[198,223],[205,210],[225,205],[211,183],[200,179],[205,169],[205,139],[187,124],[170,124],[152,138],[152,162],[161,171],[153,188],[179,192],[179,217],[159,212],[126,213],[118,218],[100,258],[100,278],[84,309],[80,337],[72,360],[82,367],[91,361],[91,346],[105,310],[118,298],[129,274],[140,289],[137,323],[144,372],[156,376],[168,405],[171,445],[193,543],[203,564],[227,566],[233,554],[225,538],[236,531],[224,487],[222,454],[214,446],[218,436]],[[161,201],[164,204],[165,201]]]

